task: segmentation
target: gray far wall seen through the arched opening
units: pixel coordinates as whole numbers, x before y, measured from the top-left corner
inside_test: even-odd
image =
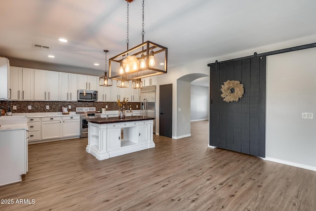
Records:
[[[208,86],[191,85],[191,121],[208,119]]]

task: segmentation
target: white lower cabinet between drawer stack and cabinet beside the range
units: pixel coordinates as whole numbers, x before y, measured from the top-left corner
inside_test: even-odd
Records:
[[[61,117],[41,118],[41,139],[56,139],[62,137]]]

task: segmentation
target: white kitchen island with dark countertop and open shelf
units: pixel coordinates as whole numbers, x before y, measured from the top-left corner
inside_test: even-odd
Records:
[[[93,118],[88,121],[86,152],[99,161],[154,148],[153,117]]]

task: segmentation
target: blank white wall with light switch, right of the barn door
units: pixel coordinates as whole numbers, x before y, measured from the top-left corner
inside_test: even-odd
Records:
[[[316,48],[267,57],[266,157],[316,170]],[[314,119],[302,119],[302,112]]]

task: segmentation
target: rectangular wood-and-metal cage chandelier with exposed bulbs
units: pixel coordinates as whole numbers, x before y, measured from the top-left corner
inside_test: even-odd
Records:
[[[146,41],[109,60],[110,79],[137,80],[167,73],[167,48]]]

